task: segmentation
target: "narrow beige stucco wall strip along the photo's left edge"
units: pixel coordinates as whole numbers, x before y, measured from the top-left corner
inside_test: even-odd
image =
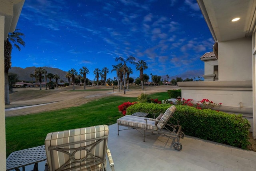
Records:
[[[4,16],[0,16],[0,47],[4,47]],[[0,48],[0,169],[6,170],[4,115],[4,48]]]

